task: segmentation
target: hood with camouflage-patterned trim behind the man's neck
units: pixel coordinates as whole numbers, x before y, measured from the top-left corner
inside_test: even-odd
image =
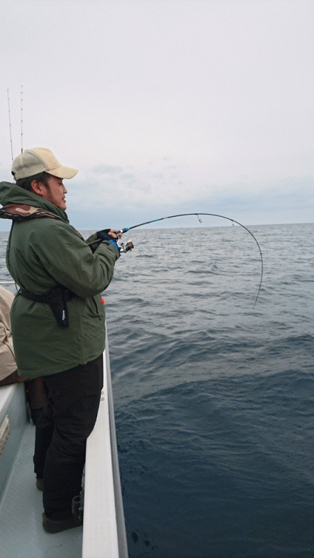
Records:
[[[66,223],[69,222],[68,216],[63,209],[60,209],[51,202],[48,202],[48,200],[44,197],[40,197],[28,190],[24,190],[24,188],[21,188],[14,183],[0,182],[0,204],[3,206],[8,204],[26,204],[33,207],[41,207],[43,209],[47,209],[47,211],[52,211],[52,213],[61,217],[61,219],[66,221]]]

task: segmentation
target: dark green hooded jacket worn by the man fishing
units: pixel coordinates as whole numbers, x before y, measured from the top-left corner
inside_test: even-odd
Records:
[[[56,374],[96,359],[105,348],[100,293],[112,280],[117,248],[103,241],[93,253],[87,243],[96,234],[84,241],[62,209],[15,184],[0,183],[0,202],[41,207],[61,218],[13,223],[6,264],[17,285],[43,295],[59,283],[77,295],[68,301],[68,328],[57,324],[48,304],[15,296],[10,319],[19,375]]]

